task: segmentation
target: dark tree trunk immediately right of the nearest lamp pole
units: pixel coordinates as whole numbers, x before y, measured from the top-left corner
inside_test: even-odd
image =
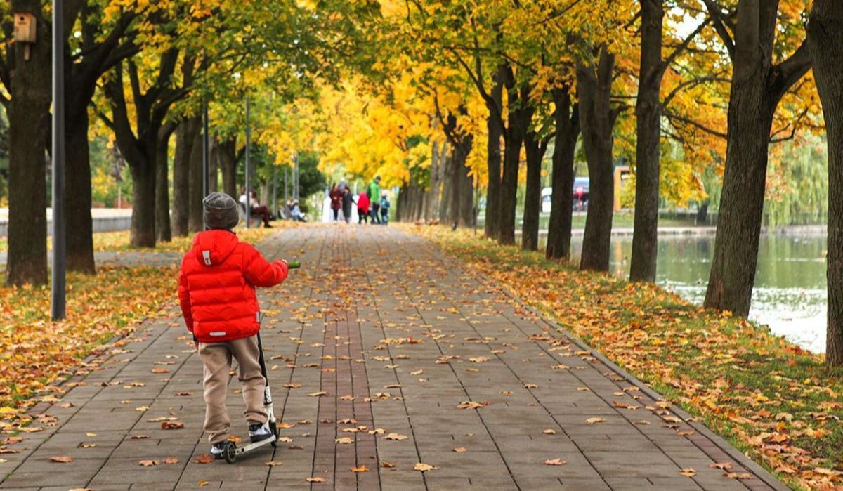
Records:
[[[88,106],[66,115],[65,216],[67,218],[67,271],[89,274],[94,264],[94,221],[91,218],[91,159],[88,144]]]

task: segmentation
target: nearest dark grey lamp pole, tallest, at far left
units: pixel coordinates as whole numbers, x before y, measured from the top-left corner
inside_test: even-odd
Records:
[[[53,321],[66,316],[65,305],[65,238],[64,218],[64,0],[53,0],[52,19],[52,302]]]

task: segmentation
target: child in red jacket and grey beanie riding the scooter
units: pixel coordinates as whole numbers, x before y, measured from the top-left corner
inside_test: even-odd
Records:
[[[286,261],[267,262],[255,247],[237,239],[232,231],[239,221],[237,206],[233,197],[220,192],[202,200],[207,230],[196,234],[179,272],[181,313],[204,364],[205,431],[216,458],[223,456],[231,426],[225,397],[232,358],[239,365],[250,439],[273,436],[263,407],[266,379],[258,361],[255,288],[281,283],[289,269]]]

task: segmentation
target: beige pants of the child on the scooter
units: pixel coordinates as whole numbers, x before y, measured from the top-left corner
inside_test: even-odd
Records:
[[[238,380],[243,384],[244,415],[249,423],[266,423],[263,392],[266,379],[260,374],[256,336],[223,343],[199,343],[199,357],[205,365],[205,431],[214,444],[228,438],[231,420],[225,408],[231,358],[239,365]]]

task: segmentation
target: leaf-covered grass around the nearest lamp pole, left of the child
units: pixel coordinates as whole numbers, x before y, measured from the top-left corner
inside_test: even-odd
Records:
[[[132,332],[139,321],[172,305],[175,267],[100,267],[96,276],[67,276],[67,319],[50,317],[50,287],[0,287],[0,414],[50,396],[30,398],[81,365],[94,348]],[[3,278],[0,277],[0,284]]]

